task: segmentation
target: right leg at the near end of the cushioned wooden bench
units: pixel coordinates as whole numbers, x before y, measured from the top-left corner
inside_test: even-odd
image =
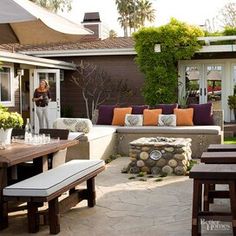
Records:
[[[48,216],[50,234],[58,234],[60,232],[60,214],[58,198],[54,198],[48,202]]]

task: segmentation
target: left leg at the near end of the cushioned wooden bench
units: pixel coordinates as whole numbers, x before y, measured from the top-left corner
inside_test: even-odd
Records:
[[[28,202],[28,231],[29,233],[37,233],[39,231],[39,214],[37,203]]]

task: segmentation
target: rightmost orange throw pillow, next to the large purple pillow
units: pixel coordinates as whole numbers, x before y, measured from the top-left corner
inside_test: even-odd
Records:
[[[186,108],[186,109],[175,108],[174,114],[176,115],[177,126],[193,125],[193,108]]]

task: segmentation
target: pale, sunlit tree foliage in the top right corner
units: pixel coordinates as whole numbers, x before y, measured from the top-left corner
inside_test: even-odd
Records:
[[[236,3],[227,3],[217,16],[221,26],[236,27]]]

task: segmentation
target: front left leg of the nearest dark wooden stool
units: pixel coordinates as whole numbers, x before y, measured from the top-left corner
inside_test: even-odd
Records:
[[[198,212],[202,205],[202,184],[199,180],[193,180],[193,205],[192,205],[192,236],[201,235],[201,227]],[[200,230],[200,232],[199,232]]]

